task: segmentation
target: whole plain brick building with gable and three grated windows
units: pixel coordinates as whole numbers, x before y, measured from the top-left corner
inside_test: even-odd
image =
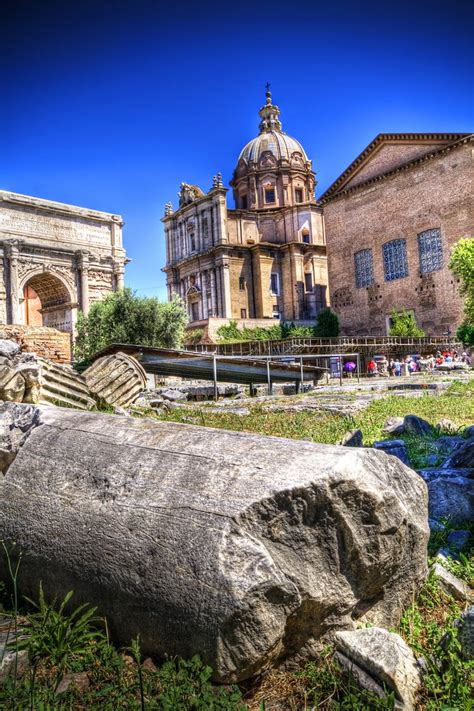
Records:
[[[393,308],[454,333],[451,247],[474,236],[472,134],[380,134],[326,190],[331,307],[342,333],[382,335]]]

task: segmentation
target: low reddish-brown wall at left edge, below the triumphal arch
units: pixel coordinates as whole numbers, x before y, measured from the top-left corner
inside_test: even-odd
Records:
[[[36,353],[54,363],[71,363],[71,334],[45,326],[16,326],[0,324],[2,338],[11,338],[26,353]]]

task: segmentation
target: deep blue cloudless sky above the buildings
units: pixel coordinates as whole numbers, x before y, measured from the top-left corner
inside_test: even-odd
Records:
[[[121,214],[127,285],[165,298],[164,203],[228,184],[267,81],[320,195],[378,133],[473,130],[473,21],[456,0],[3,0],[0,188]]]

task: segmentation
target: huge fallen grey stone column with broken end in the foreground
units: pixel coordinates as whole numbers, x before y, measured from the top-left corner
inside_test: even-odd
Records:
[[[40,408],[0,512],[23,594],[74,590],[118,643],[221,682],[396,624],[427,572],[426,485],[373,449]]]

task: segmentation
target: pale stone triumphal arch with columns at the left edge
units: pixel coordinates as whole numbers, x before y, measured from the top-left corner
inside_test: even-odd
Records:
[[[0,323],[74,331],[123,288],[120,215],[0,190]]]

